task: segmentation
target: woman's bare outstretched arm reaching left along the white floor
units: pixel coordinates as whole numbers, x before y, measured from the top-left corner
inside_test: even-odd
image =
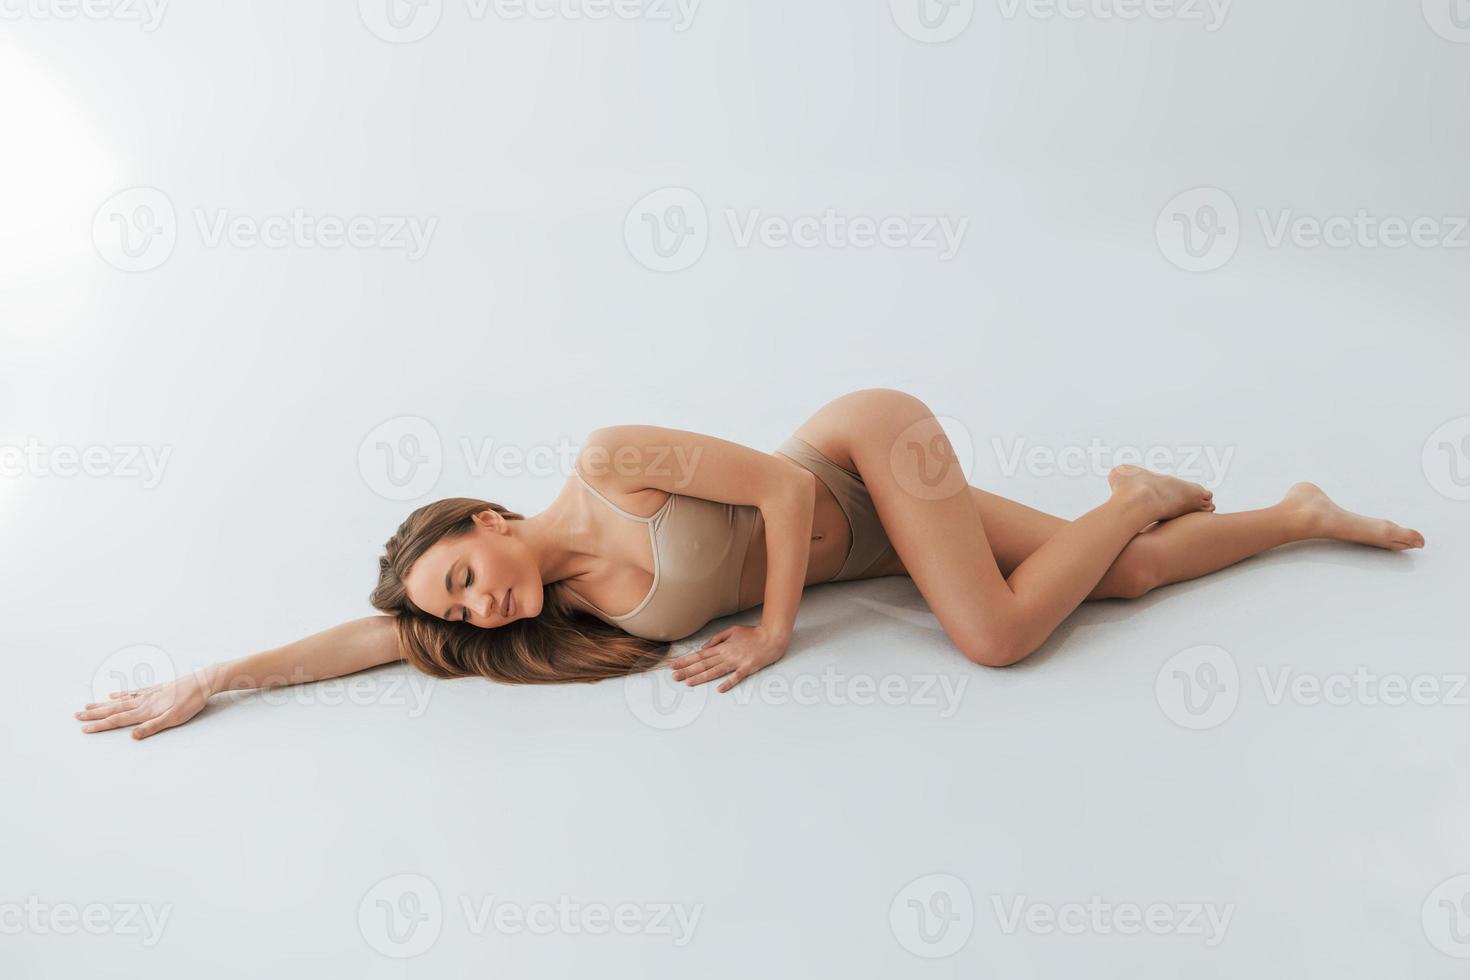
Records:
[[[281,688],[325,680],[398,660],[392,616],[369,616],[325,629],[285,646],[201,667],[140,691],[115,691],[76,713],[82,732],[135,726],[132,738],[184,724],[225,691]]]

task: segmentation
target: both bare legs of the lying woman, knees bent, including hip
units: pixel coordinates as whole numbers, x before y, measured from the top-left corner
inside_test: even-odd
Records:
[[[964,486],[963,476],[929,486],[923,447],[944,454],[948,439],[923,403],[888,389],[831,403],[798,435],[863,475],[900,557],[875,572],[913,577],[956,645],[989,666],[1026,657],[1086,598],[1142,595],[1291,541],[1423,547],[1417,532],[1344,511],[1310,483],[1274,507],[1213,514],[1204,488],[1119,467],[1108,502],[1076,522]],[[916,461],[898,451],[916,447]]]

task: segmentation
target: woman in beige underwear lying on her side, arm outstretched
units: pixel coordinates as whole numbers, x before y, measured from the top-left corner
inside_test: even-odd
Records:
[[[675,660],[719,691],[778,661],[807,585],[907,574],[956,646],[1003,667],[1083,599],[1132,598],[1292,541],[1402,551],[1423,536],[1351,514],[1311,483],[1216,514],[1198,483],[1119,466],[1066,522],[966,485],[917,398],[867,389],[817,411],[775,454],[654,426],[598,429],[542,513],[451,498],[413,511],[379,558],[373,616],[76,714],[84,732],[182,724],[210,695],[407,660],[435,677],[598,680],[662,663],[667,641],[763,605]],[[609,610],[626,610],[612,613]]]

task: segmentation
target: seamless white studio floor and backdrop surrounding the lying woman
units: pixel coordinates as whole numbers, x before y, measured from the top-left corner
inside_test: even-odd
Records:
[[[1463,976],[1470,46],[1433,3],[980,4],[942,44],[881,3],[448,3],[407,44],[338,6],[0,37],[0,976]],[[1213,272],[1189,188],[1238,209]],[[650,251],[691,200],[703,253]],[[741,244],[825,209],[966,223],[948,259]],[[379,238],[251,244],[297,210]],[[1360,210],[1442,237],[1273,244]],[[1092,605],[1011,670],[885,579],[813,589],[739,696],[385,669],[141,743],[71,718],[368,614],[409,508],[534,511],[595,426],[773,448],[878,385],[1058,514],[1154,451],[1429,547]]]

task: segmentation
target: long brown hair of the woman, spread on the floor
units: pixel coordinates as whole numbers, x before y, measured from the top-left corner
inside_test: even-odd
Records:
[[[409,569],[441,538],[469,533],[473,516],[492,510],[506,520],[520,514],[469,497],[448,497],[409,514],[378,558],[372,605],[397,617],[398,652],[434,677],[488,677],[503,683],[603,680],[659,666],[667,644],[642,639],[573,607],[566,586],[545,586],[541,613],[506,626],[481,629],[429,616],[409,601]]]

